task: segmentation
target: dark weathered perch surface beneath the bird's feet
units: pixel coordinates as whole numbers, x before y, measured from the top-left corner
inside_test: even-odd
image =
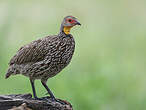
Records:
[[[73,110],[72,105],[61,99],[32,98],[31,94],[0,95],[0,110]]]

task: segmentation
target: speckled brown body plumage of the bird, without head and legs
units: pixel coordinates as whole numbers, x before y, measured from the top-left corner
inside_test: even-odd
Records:
[[[69,64],[74,48],[72,35],[47,36],[33,41],[11,59],[7,75],[21,73],[32,79],[47,80]]]

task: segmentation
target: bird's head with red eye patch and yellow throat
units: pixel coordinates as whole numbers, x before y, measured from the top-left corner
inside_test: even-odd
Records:
[[[77,18],[73,16],[66,16],[61,24],[61,31],[68,35],[70,33],[71,28],[76,25],[81,25],[78,22]]]

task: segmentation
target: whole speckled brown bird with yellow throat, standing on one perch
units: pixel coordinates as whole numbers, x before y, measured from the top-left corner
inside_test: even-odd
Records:
[[[70,34],[72,27],[81,25],[74,16],[64,17],[60,31],[22,46],[11,58],[5,78],[22,74],[29,78],[33,97],[37,97],[35,80],[40,80],[50,98],[56,100],[47,86],[47,80],[60,73],[71,61],[75,40]]]

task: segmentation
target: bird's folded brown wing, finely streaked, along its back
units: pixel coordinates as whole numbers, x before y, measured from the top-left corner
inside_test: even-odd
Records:
[[[25,64],[43,60],[48,53],[49,48],[51,48],[49,47],[51,38],[51,36],[48,36],[21,47],[16,55],[12,57],[9,64]]]

